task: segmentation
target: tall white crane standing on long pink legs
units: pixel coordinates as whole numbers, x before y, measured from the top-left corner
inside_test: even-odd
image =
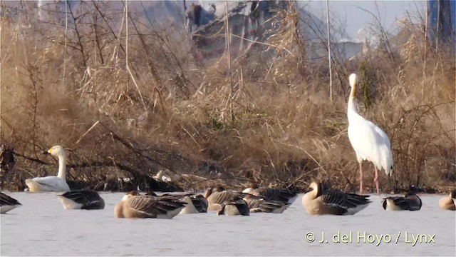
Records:
[[[364,119],[358,114],[356,109],[356,85],[357,76],[351,74],[349,77],[351,86],[350,98],[348,99],[347,117],[348,117],[348,139],[355,150],[356,159],[359,163],[359,191],[363,193],[363,167],[361,163],[371,161],[375,168],[375,188],[378,189],[378,171],[385,170],[387,176],[393,173],[393,153],[391,152],[391,143],[386,133],[371,121]]]

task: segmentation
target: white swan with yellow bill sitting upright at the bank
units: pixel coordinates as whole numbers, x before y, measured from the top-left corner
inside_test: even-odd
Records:
[[[66,153],[62,146],[52,146],[48,150],[51,156],[58,157],[57,176],[46,176],[26,179],[26,185],[30,192],[67,192],[70,187],[66,183]]]

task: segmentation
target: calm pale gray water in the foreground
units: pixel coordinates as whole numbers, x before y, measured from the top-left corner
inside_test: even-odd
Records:
[[[455,256],[456,250],[455,212],[438,209],[442,196],[420,196],[423,208],[414,212],[383,211],[381,196],[372,196],[354,216],[309,216],[299,197],[282,214],[163,220],[115,218],[123,193],[101,193],[101,211],[67,211],[56,193],[8,194],[23,206],[0,216],[1,256]],[[334,242],[349,241],[343,235],[350,232],[351,242]],[[307,233],[316,236],[313,243]],[[412,235],[425,236],[413,246]]]

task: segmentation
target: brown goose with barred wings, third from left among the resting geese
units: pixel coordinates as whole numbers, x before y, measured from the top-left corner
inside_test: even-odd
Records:
[[[141,196],[130,191],[117,203],[117,218],[173,218],[187,203],[170,196]]]

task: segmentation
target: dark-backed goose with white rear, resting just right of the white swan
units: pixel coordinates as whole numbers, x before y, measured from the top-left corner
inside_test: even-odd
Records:
[[[101,210],[105,208],[105,201],[97,191],[91,189],[74,190],[58,196],[66,210]]]

